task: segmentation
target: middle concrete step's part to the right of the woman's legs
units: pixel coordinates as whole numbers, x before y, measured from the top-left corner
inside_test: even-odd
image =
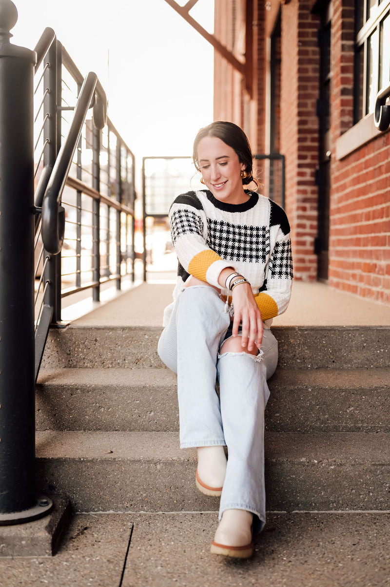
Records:
[[[266,429],[389,432],[390,367],[277,369],[269,381]]]

